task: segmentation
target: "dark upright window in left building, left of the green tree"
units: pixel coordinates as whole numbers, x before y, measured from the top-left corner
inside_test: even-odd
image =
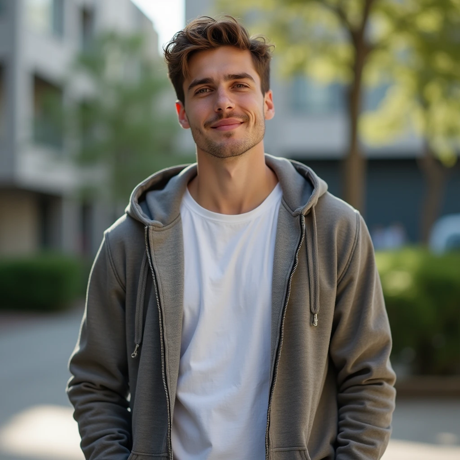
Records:
[[[59,86],[34,76],[34,142],[63,147],[63,92]]]

